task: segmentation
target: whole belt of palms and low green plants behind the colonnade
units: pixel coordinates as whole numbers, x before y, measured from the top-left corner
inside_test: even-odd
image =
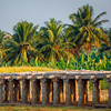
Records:
[[[46,27],[18,22],[13,34],[0,30],[0,67],[42,65],[70,70],[111,70],[111,29],[109,20],[93,19],[89,4],[69,16],[72,24],[50,19]]]

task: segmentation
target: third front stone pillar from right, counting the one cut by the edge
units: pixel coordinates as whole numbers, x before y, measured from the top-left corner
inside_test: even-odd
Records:
[[[78,79],[79,87],[79,105],[82,107],[84,104],[84,91],[83,91],[83,80]]]

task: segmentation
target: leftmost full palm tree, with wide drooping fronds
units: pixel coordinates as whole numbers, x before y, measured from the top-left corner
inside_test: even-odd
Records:
[[[22,61],[30,62],[31,58],[43,56],[34,48],[33,42],[37,39],[37,28],[33,23],[27,21],[18,22],[13,27],[14,34],[12,39],[4,40],[4,48],[7,49],[6,62],[10,61],[11,65],[22,63]]]

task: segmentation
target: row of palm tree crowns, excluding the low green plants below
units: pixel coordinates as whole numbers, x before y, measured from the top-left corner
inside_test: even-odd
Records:
[[[30,63],[32,59],[42,62],[69,61],[81,50],[87,53],[89,61],[90,50],[110,48],[111,32],[101,28],[109,20],[100,20],[105,14],[102,12],[93,19],[93,8],[87,4],[69,16],[72,24],[63,24],[52,18],[39,31],[39,26],[28,21],[18,22],[12,36],[0,30],[0,62],[12,65],[23,61]]]

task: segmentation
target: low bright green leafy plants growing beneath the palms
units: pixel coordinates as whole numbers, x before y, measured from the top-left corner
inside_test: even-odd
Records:
[[[2,62],[0,67],[8,67],[10,62],[4,63]],[[91,51],[89,61],[87,61],[87,56],[81,53],[79,57],[74,57],[74,59],[70,59],[65,61],[64,59],[54,62],[54,59],[49,62],[41,62],[40,60],[31,58],[31,62],[28,63],[22,61],[21,63],[17,63],[13,65],[30,65],[30,67],[48,67],[48,68],[58,68],[60,70],[110,70],[111,71],[111,58],[109,58],[109,52],[102,53],[99,57],[98,50]]]

